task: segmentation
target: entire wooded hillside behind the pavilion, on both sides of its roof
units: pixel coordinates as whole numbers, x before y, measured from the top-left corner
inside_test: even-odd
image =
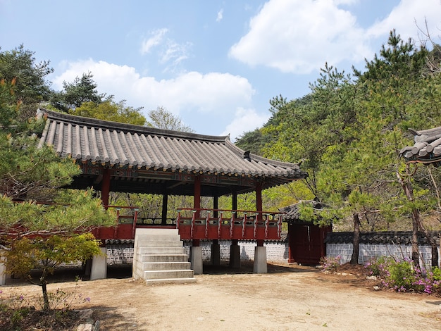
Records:
[[[409,128],[441,125],[440,61],[437,44],[426,48],[410,39],[404,41],[392,31],[373,60],[366,61],[364,70],[344,73],[325,65],[306,96],[292,101],[282,95],[273,97],[270,120],[245,133],[236,144],[268,158],[301,163],[309,177],[263,192],[264,208],[277,210],[318,199],[328,208],[313,211],[305,204],[302,218],[333,223],[335,230],[426,234],[439,230],[440,170],[432,165],[406,164],[398,151],[414,144]],[[8,100],[2,103],[20,107],[18,123],[31,118],[43,104],[76,115],[192,131],[161,106],[149,111],[147,120],[142,108],[98,94],[92,73],[65,82],[62,91],[53,91],[46,81],[52,72],[49,61],[35,63],[32,51],[23,46],[0,53],[2,86],[5,92],[9,87],[12,91],[4,94]],[[10,124],[6,119],[3,116],[4,127]],[[157,196],[115,194],[114,199],[115,204],[161,204]],[[176,199],[180,206],[185,201]],[[201,204],[210,206],[211,202]],[[230,205],[228,198],[219,201],[219,208]],[[240,195],[238,208],[253,206],[252,194]]]

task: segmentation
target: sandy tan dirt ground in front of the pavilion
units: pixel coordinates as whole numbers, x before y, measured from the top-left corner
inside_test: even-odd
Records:
[[[100,330],[441,330],[441,297],[373,289],[359,269],[324,274],[313,267],[269,264],[267,274],[204,266],[197,282],[146,285],[130,268],[108,279],[80,281]],[[73,290],[66,279],[49,290]],[[40,287],[7,280],[4,294],[39,294]]]

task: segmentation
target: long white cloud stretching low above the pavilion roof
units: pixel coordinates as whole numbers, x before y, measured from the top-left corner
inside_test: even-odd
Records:
[[[73,82],[75,77],[89,71],[100,93],[113,94],[116,101],[125,99],[128,106],[143,106],[146,112],[163,106],[170,113],[179,115],[197,132],[203,133],[211,127],[211,135],[218,135],[231,118],[237,117],[237,107],[249,107],[254,94],[246,78],[229,73],[201,74],[193,71],[173,79],[157,80],[139,75],[135,68],[128,65],[92,59],[67,63],[66,70],[52,80],[54,89],[61,90],[63,81]],[[251,120],[248,123],[252,123],[251,130],[258,126]]]

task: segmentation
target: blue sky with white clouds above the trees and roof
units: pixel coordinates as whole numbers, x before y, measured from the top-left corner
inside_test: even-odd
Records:
[[[440,0],[0,0],[0,46],[51,61],[56,90],[90,71],[116,101],[235,142],[326,62],[363,69],[393,28],[419,44],[425,20],[440,43]]]

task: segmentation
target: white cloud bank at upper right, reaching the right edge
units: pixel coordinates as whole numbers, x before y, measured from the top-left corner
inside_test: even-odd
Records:
[[[355,0],[270,0],[251,18],[249,32],[230,48],[229,55],[248,65],[266,65],[284,73],[311,73],[325,62],[357,63],[370,57],[373,39],[387,38],[393,27],[402,37],[416,39],[416,19],[428,19],[438,33],[440,0],[402,0],[385,20],[368,30],[340,5]],[[350,8],[350,7],[346,7]],[[433,33],[433,32],[432,32]]]

